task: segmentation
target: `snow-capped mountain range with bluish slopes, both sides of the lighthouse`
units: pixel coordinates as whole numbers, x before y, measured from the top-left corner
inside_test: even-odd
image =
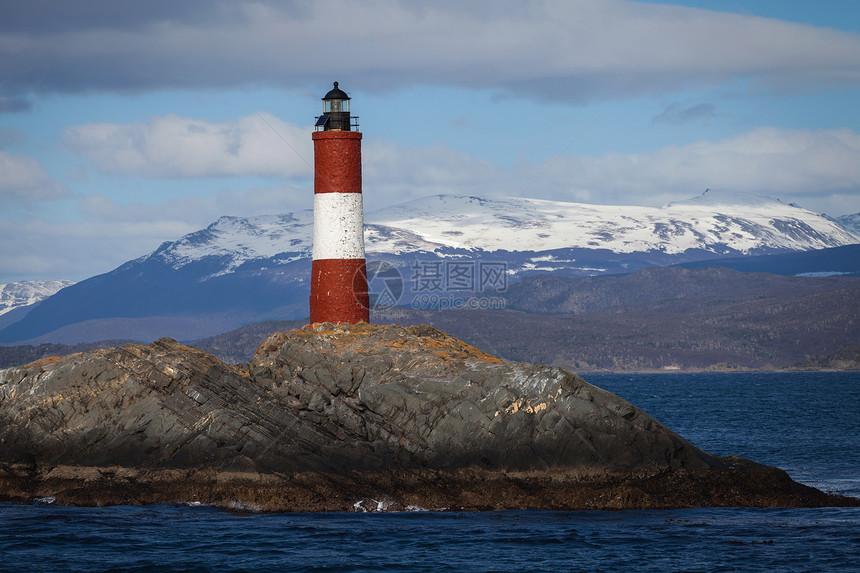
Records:
[[[460,271],[468,271],[469,264],[493,266],[496,277],[502,268],[510,282],[538,272],[624,273],[860,243],[860,237],[812,211],[725,193],[659,208],[437,195],[368,212],[365,219],[369,265],[386,262],[400,269],[399,304],[414,304],[422,294],[417,287],[428,278],[425,269],[447,272],[454,265]],[[306,317],[312,236],[309,210],[222,217],[61,290],[0,330],[0,342],[190,340],[262,320]],[[448,294],[487,294],[482,285],[471,284],[471,292]],[[504,288],[499,284],[493,283],[494,292]]]

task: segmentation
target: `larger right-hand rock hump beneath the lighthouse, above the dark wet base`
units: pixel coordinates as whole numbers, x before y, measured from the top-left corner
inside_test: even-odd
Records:
[[[282,400],[310,410],[306,419],[369,445],[369,455],[343,452],[350,465],[522,470],[713,462],[568,371],[507,363],[428,326],[279,333],[261,344],[252,368]]]

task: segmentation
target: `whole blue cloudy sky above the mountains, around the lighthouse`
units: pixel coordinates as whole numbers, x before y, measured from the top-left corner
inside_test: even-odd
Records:
[[[855,0],[0,0],[0,283],[311,208],[333,81],[366,212],[705,189],[860,212]]]

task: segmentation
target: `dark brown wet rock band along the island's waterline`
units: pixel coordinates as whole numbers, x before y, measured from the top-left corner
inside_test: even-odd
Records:
[[[201,504],[251,512],[619,511],[860,507],[741,458],[728,469],[607,472],[388,470],[276,475],[206,468],[0,466],[0,502],[64,506]],[[44,501],[42,501],[44,503]]]

